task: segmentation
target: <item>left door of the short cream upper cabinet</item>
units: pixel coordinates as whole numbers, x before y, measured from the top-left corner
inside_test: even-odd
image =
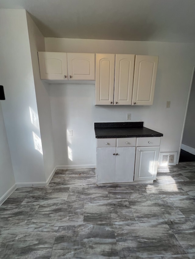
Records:
[[[67,53],[38,52],[38,57],[41,79],[68,80]]]

